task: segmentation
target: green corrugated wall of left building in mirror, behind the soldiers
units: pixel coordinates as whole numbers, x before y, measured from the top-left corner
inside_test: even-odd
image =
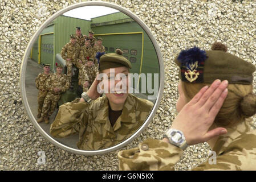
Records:
[[[71,18],[63,15],[56,18],[54,23],[54,55],[56,55],[56,53],[60,53],[62,47],[66,43],[70,42],[70,35],[75,34],[76,27],[81,27],[83,35],[88,35],[88,31],[91,29],[91,21]]]

